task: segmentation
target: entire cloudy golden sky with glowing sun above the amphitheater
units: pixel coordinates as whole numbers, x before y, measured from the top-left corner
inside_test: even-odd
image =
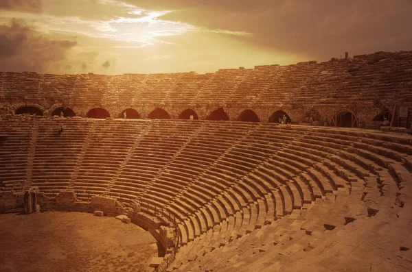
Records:
[[[412,50],[411,0],[0,0],[0,71],[208,73]]]

